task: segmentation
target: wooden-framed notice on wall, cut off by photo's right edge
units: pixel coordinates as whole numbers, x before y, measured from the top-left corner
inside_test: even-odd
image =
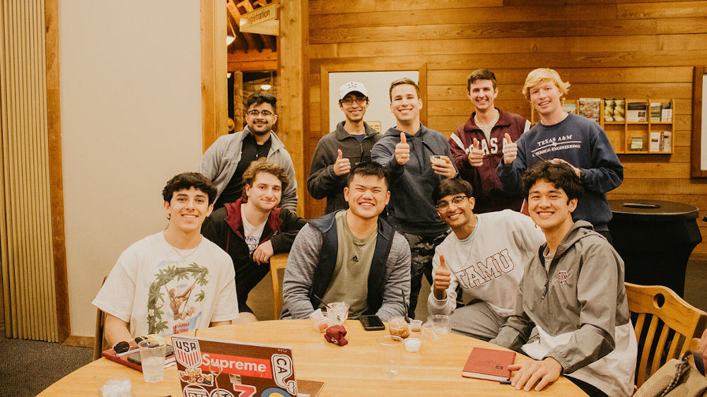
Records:
[[[707,178],[707,66],[695,66],[690,176]]]

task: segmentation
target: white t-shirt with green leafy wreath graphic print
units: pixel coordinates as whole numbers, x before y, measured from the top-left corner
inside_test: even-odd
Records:
[[[132,336],[163,336],[238,318],[233,261],[209,239],[178,250],[162,232],[128,247],[93,302],[129,323]],[[191,253],[191,254],[189,254]]]

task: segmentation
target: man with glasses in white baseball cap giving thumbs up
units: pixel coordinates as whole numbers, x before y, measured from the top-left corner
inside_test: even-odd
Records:
[[[380,132],[363,121],[368,109],[368,90],[363,83],[349,81],[341,85],[339,109],[346,120],[317,143],[307,180],[312,197],[327,198],[326,213],[349,208],[344,200],[346,176],[351,167],[370,161],[370,149],[382,138]]]

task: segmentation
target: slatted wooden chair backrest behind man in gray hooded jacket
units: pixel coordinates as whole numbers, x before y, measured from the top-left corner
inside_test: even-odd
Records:
[[[626,297],[636,321],[636,386],[641,387],[665,361],[682,355],[700,337],[707,313],[662,285],[626,283]]]

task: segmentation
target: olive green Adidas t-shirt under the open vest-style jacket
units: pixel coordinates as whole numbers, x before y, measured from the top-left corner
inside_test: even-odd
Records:
[[[368,273],[378,232],[374,230],[368,237],[356,238],[346,223],[346,212],[339,211],[336,215],[339,239],[337,265],[322,300],[327,303],[346,302],[349,304],[349,319],[356,319],[368,309]]]

